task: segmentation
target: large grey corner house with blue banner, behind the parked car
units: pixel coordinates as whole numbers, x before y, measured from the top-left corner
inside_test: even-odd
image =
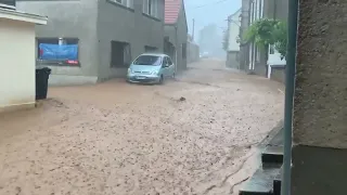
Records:
[[[163,52],[164,1],[17,0],[17,9],[50,18],[36,27],[36,65],[65,86],[125,77],[139,54]]]

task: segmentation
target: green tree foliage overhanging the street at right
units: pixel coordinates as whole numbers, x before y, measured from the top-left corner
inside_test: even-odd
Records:
[[[287,27],[282,21],[260,18],[255,21],[244,35],[246,42],[255,42],[260,48],[274,44],[282,57],[286,55]]]

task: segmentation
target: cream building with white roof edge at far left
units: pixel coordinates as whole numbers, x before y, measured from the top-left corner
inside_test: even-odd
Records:
[[[0,113],[35,107],[35,26],[47,17],[0,0]]]

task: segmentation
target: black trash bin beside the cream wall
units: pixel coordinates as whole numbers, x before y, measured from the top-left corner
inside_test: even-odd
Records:
[[[36,100],[47,99],[48,79],[51,69],[48,67],[36,69]]]

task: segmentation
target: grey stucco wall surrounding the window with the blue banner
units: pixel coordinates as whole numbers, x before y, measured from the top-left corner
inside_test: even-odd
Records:
[[[53,75],[98,76],[97,1],[48,2],[22,0],[17,1],[17,10],[48,16],[48,25],[36,27],[37,38],[65,37],[79,39],[79,61],[81,66],[50,66]],[[35,54],[37,55],[37,53]]]

